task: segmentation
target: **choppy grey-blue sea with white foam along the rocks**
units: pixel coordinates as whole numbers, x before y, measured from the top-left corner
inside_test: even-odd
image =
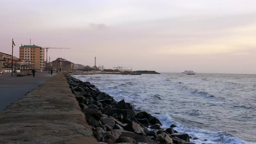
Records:
[[[196,144],[256,144],[256,75],[76,75]]]

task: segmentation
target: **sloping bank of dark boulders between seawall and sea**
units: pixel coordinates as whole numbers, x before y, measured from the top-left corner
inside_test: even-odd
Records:
[[[90,82],[66,75],[70,88],[92,126],[94,137],[102,144],[194,144],[188,134],[161,128],[158,118],[135,110],[125,100],[115,101]]]

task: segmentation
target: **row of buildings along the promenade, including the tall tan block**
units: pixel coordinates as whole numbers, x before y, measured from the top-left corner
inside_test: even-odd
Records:
[[[45,49],[35,45],[21,45],[19,49],[19,58],[13,56],[14,69],[35,69],[37,72],[55,69],[61,71],[71,71],[75,69],[75,63],[66,59],[57,58],[52,62],[46,63]],[[0,70],[11,71],[12,56],[0,52]]]

